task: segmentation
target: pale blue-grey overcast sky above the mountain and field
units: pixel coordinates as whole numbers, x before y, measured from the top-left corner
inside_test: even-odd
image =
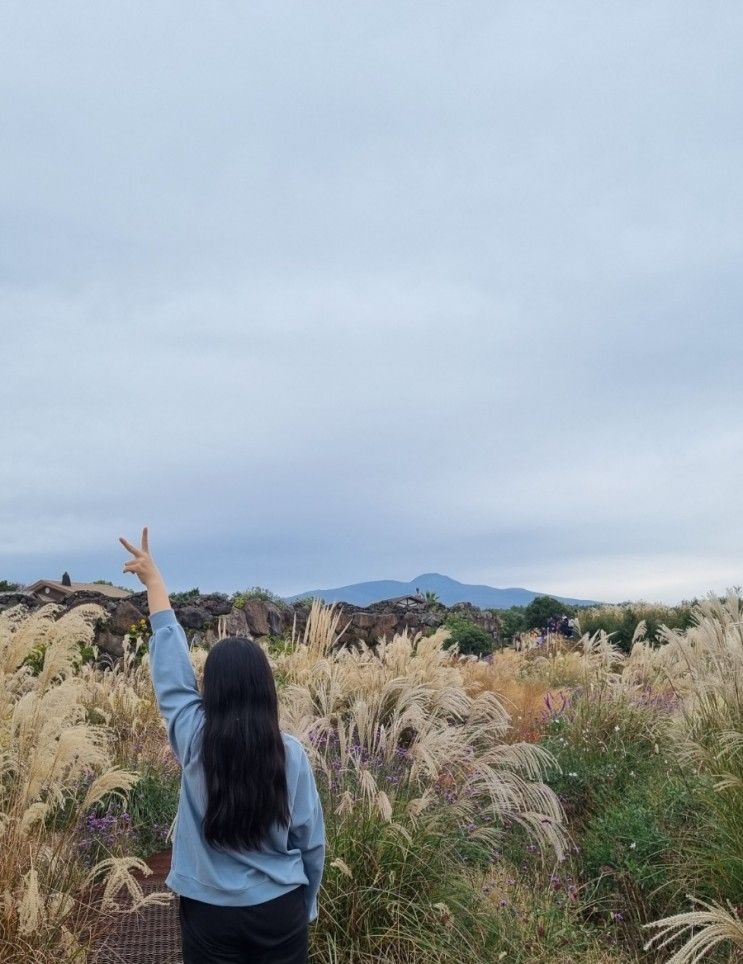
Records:
[[[0,579],[743,583],[743,6],[4,0]]]

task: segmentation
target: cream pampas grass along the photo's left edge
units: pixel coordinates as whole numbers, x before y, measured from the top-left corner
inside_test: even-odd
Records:
[[[88,721],[76,675],[79,643],[92,641],[105,612],[60,609],[0,614],[0,959],[8,964],[81,960],[115,894],[126,890],[134,906],[143,904],[131,861],[110,858],[86,872],[80,860],[79,814],[126,794],[137,776],[114,765],[113,732]],[[44,662],[34,676],[23,664],[40,644]]]

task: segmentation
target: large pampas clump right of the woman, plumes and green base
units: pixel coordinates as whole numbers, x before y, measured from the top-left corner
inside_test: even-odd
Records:
[[[561,855],[551,758],[508,743],[490,692],[431,636],[338,646],[339,614],[313,605],[276,660],[282,720],[303,739],[324,797],[328,853],[312,960],[472,962],[503,947],[481,883],[508,826]],[[466,665],[466,664],[465,664]]]

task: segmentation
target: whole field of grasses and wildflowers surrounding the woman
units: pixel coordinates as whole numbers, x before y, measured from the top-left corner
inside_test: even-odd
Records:
[[[326,815],[312,961],[740,959],[743,600],[619,608],[488,661],[455,624],[346,647],[320,600],[265,642]],[[0,615],[10,964],[84,961],[109,915],[168,900],[131,871],[168,845],[178,767],[142,627],[115,665],[84,658],[100,616]]]

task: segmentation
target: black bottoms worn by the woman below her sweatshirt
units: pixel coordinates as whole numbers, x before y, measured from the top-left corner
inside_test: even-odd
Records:
[[[250,907],[180,897],[183,964],[306,964],[306,889]]]

